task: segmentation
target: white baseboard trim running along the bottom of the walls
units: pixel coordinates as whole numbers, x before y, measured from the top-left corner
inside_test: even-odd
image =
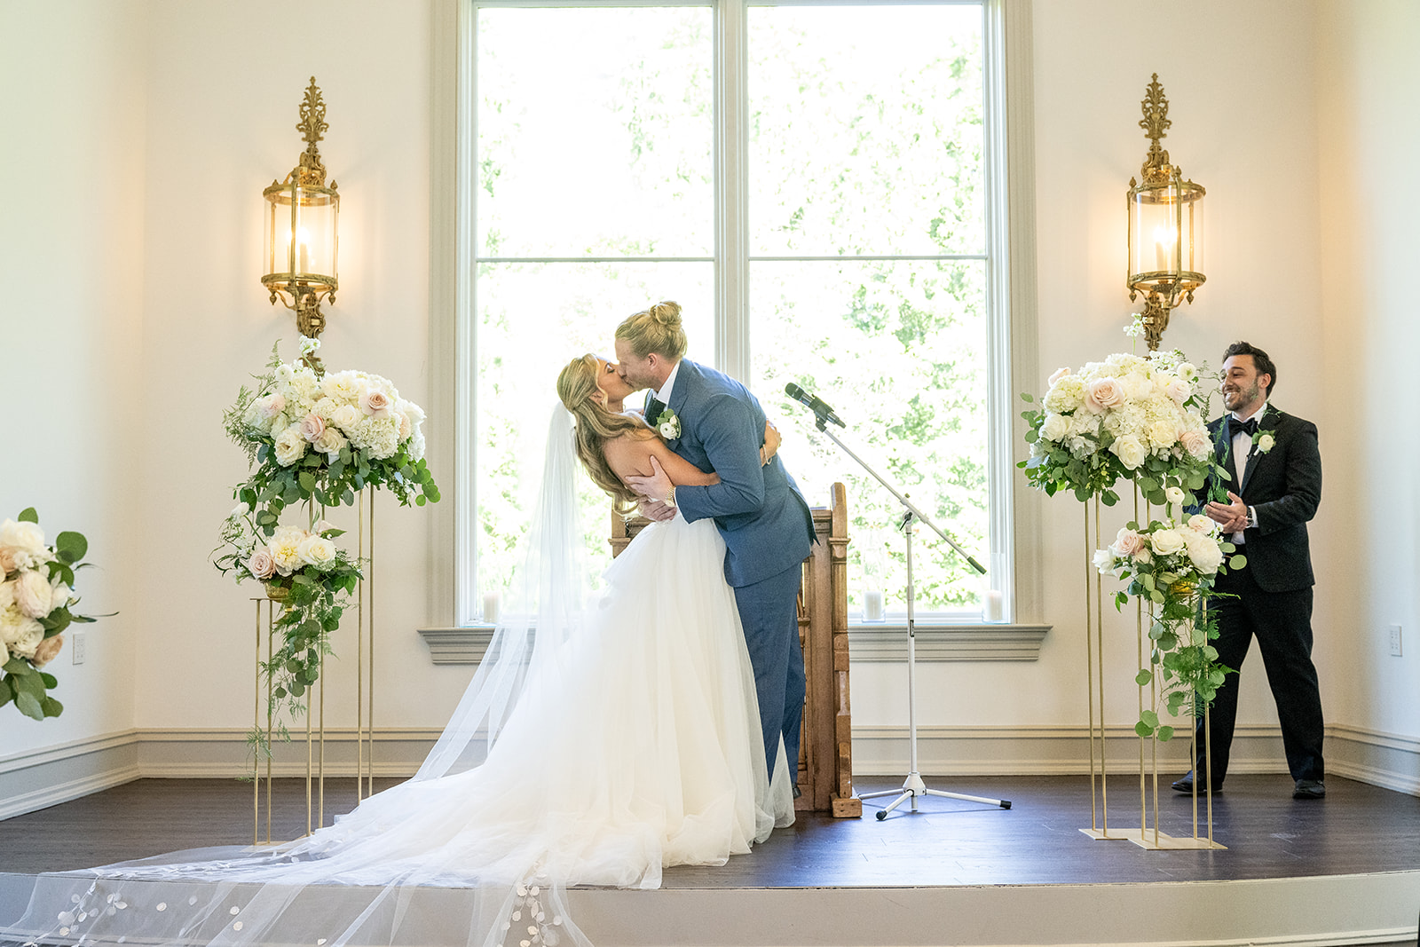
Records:
[[[419,768],[439,730],[379,731],[376,777],[409,777]],[[1129,726],[1106,728],[1106,761],[1119,772],[1137,772],[1139,738]],[[365,750],[368,751],[368,750]],[[327,730],[325,774],[354,777],[354,728]],[[855,775],[902,775],[909,768],[907,728],[853,727]],[[277,744],[271,774],[304,777],[304,734]],[[1189,741],[1159,747],[1162,774],[1189,768]],[[1089,772],[1086,730],[1079,726],[917,727],[917,768],[930,775],[1072,775]],[[1420,795],[1420,738],[1362,727],[1326,728],[1326,768],[1335,775]],[[263,774],[266,767],[263,765]],[[1231,772],[1285,772],[1277,727],[1240,726]],[[231,779],[251,774],[246,730],[145,728],[102,734],[44,750],[0,757],[0,819],[68,802],[139,778]]]

